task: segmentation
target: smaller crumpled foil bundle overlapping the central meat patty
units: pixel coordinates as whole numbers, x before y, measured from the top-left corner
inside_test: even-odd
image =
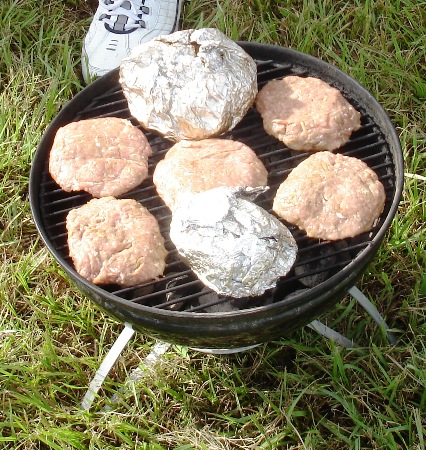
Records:
[[[219,294],[262,295],[297,255],[288,228],[253,203],[267,187],[219,187],[182,194],[170,237],[198,278]]]

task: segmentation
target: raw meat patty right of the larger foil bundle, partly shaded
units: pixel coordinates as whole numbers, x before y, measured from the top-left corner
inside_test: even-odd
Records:
[[[266,132],[293,150],[335,150],[361,126],[361,114],[319,78],[271,80],[258,93],[256,108]]]

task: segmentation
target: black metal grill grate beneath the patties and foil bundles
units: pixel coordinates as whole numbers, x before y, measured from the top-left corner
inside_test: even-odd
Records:
[[[310,70],[290,63],[281,64],[273,60],[257,60],[256,62],[259,87],[273,78],[280,78],[288,74],[319,76],[314,69]],[[351,263],[360,251],[370,245],[389,212],[395,191],[394,163],[383,133],[363,105],[358,104],[350,93],[344,92],[343,87],[337,85],[335,80],[331,84],[335,84],[362,115],[361,129],[352,135],[350,141],[339,152],[366,162],[375,170],[385,186],[387,194],[385,210],[382,219],[373,230],[343,241],[321,242],[308,238],[297,228],[289,226],[299,247],[298,258],[291,272],[278,282],[275,290],[255,299],[238,299],[238,304],[233,299],[217,296],[205,288],[195,274],[180,260],[170,241],[171,213],[156,193],[152,184],[152,173],[156,163],[164,157],[172,144],[153,133],[145,132],[154,153],[150,159],[149,176],[141,186],[122,197],[136,199],[158,219],[169,251],[165,276],[160,280],[134,287],[103,286],[102,288],[113,296],[148,307],[194,313],[218,312],[279,302],[284,295],[288,296],[301,289],[309,289],[315,283],[325,281]],[[118,82],[114,87],[90,101],[72,120],[106,116],[129,118],[136,126],[139,126],[130,115],[127,101]],[[239,140],[250,146],[264,163],[269,172],[270,190],[259,199],[258,204],[270,211],[279,184],[308,155],[293,152],[281,142],[267,135],[260,116],[254,108],[234,130],[226,133],[223,137]],[[41,177],[39,196],[43,226],[54,248],[64,261],[72,266],[68,255],[65,218],[71,209],[85,204],[91,199],[91,196],[81,192],[66,193],[62,191],[52,180],[47,165],[48,158],[46,158]]]

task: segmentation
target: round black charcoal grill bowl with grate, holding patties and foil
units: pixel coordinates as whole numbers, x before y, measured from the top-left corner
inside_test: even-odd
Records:
[[[169,238],[170,210],[152,184],[156,163],[172,143],[145,132],[153,148],[149,177],[123,195],[146,206],[158,219],[169,251],[164,277],[134,287],[95,286],[74,270],[68,254],[67,213],[91,199],[83,192],[66,193],[48,171],[49,152],[57,129],[69,122],[93,117],[129,118],[127,101],[118,82],[118,70],[99,78],[73,98],[46,130],[34,156],[30,176],[30,203],[38,231],[49,251],[70,278],[101,309],[137,331],[163,341],[211,349],[239,348],[270,341],[318,318],[335,305],[361,277],[377,253],[396,213],[403,186],[403,159],[398,136],[377,101],[351,77],[314,57],[283,47],[239,44],[255,59],[258,84],[290,74],[314,76],[338,88],[361,112],[362,127],[338,151],[366,162],[386,190],[385,209],[374,228],[355,238],[336,242],[311,239],[289,227],[298,247],[296,263],[276,288],[260,297],[233,299],[206,288],[179,258]],[[268,211],[278,185],[308,156],[296,153],[263,130],[252,108],[237,127],[223,137],[244,142],[269,172],[270,190],[259,204]]]

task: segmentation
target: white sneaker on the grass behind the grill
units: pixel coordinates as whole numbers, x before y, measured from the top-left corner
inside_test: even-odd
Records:
[[[117,68],[133,48],[178,29],[182,0],[99,0],[83,42],[86,83]]]

